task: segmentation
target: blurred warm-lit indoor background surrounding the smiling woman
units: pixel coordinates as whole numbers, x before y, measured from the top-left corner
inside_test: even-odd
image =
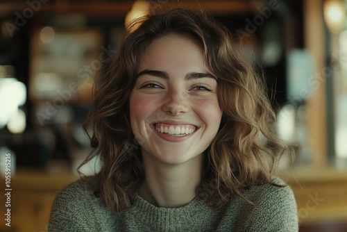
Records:
[[[47,231],[56,192],[92,151],[82,125],[94,75],[131,19],[173,6],[207,10],[263,67],[276,132],[296,147],[279,174],[296,195],[301,231],[347,231],[344,0],[0,1],[0,215],[11,212],[0,231]],[[92,160],[81,172],[98,168]]]

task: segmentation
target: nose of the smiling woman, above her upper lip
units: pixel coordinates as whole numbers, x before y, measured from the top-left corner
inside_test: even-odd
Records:
[[[182,91],[168,92],[167,99],[162,104],[162,110],[170,115],[183,115],[188,112],[187,94]]]

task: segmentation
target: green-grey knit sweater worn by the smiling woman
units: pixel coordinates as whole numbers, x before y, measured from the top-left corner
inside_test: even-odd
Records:
[[[283,184],[280,179],[275,183]],[[96,194],[95,179],[71,183],[58,193],[49,231],[298,231],[296,201],[289,187],[270,184],[244,191],[254,206],[235,197],[219,209],[195,198],[179,208],[160,208],[142,197],[127,210],[112,214]]]

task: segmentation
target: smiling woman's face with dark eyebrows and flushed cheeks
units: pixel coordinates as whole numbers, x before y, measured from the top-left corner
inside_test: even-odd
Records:
[[[130,95],[130,124],[142,156],[168,164],[192,160],[211,144],[221,116],[203,49],[180,35],[154,40]]]

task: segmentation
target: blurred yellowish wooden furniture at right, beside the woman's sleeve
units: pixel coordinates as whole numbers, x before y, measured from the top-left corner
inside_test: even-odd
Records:
[[[303,228],[327,224],[347,227],[347,169],[302,167],[281,176],[294,191]]]

